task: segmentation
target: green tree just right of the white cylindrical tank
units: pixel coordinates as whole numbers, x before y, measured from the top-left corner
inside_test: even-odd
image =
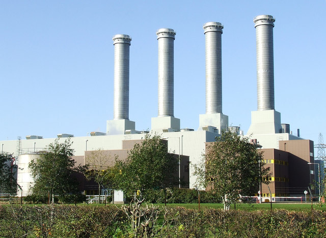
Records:
[[[61,195],[76,193],[77,180],[73,177],[84,167],[75,167],[70,139],[60,143],[59,139],[47,146],[47,152],[29,164],[34,178],[33,193],[39,195]]]

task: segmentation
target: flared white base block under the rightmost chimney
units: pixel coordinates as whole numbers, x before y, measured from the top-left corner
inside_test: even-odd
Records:
[[[282,133],[281,113],[275,110],[251,112],[251,125],[247,135]]]

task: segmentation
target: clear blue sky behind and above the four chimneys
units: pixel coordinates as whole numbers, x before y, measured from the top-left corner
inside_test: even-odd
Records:
[[[113,119],[115,34],[132,37],[129,118],[136,129],[157,116],[156,30],[175,39],[174,115],[197,129],[205,113],[208,21],[224,24],[223,113],[246,133],[257,109],[253,18],[276,18],[275,108],[293,134],[326,137],[326,1],[4,1],[0,0],[0,140],[106,130]]]

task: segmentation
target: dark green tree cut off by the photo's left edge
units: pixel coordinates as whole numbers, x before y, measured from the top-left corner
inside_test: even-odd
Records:
[[[17,180],[15,174],[17,165],[13,164],[11,154],[0,153],[0,193],[17,193]]]

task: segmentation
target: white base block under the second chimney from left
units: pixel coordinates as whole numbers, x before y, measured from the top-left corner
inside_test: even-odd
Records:
[[[180,131],[180,119],[175,117],[152,117],[152,131],[173,132]]]

